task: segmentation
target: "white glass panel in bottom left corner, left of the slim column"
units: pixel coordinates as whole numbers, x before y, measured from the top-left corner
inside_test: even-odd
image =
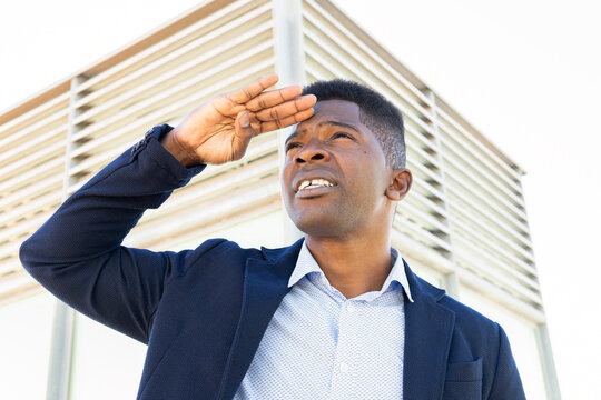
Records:
[[[0,398],[46,397],[55,304],[43,292],[0,308]]]

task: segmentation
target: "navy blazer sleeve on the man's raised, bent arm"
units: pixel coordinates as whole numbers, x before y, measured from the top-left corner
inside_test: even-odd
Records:
[[[164,124],[67,199],[20,248],[27,271],[76,310],[148,342],[165,282],[184,268],[187,251],[152,252],[121,246],[144,211],[158,208],[204,166],[187,169],[158,139]]]

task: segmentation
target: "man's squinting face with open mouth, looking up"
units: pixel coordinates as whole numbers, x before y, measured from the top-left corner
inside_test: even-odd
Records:
[[[303,232],[344,238],[390,224],[386,188],[392,169],[359,108],[344,100],[319,101],[315,114],[286,141],[282,192]]]

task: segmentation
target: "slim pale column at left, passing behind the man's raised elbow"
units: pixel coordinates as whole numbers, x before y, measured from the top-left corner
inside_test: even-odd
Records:
[[[65,150],[65,171],[62,182],[62,200],[65,201],[71,187],[72,178],[69,170],[75,161],[71,158],[73,149],[73,134],[78,131],[75,119],[79,116],[76,107],[80,96],[77,92],[79,84],[85,81],[85,77],[71,79],[71,98],[69,101],[69,124],[67,130]],[[50,352],[48,383],[46,389],[47,400],[67,400],[69,398],[69,379],[71,374],[71,349],[73,347],[75,333],[75,310],[62,301],[57,300],[55,309],[55,320],[52,324],[52,343]]]

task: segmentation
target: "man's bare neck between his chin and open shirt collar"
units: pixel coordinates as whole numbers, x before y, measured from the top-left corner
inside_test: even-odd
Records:
[[[382,289],[392,269],[390,237],[358,239],[305,237],[329,283],[347,299]]]

